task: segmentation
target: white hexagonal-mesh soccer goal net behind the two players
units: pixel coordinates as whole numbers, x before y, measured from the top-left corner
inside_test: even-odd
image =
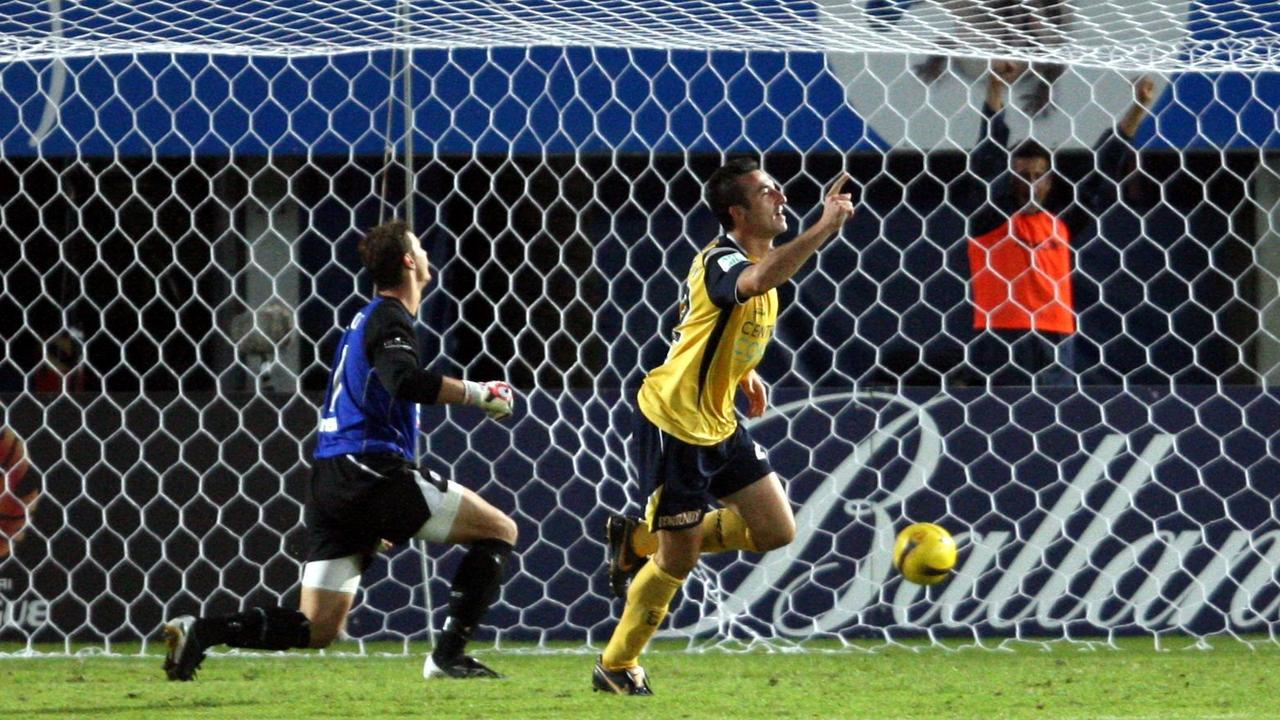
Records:
[[[707,557],[664,634],[1274,641],[1277,67],[1270,0],[0,0],[0,651],[296,602],[390,217],[431,366],[521,395],[424,409],[520,525],[485,632],[603,643],[631,402],[737,155],[792,228],[841,170],[858,213],[781,288],[745,421],[796,538]],[[947,583],[895,575],[910,521]],[[348,633],[429,638],[457,557],[381,556]]]

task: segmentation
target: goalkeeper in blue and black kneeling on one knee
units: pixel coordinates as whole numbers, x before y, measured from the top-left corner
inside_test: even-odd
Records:
[[[346,623],[360,575],[381,543],[410,539],[468,544],[449,591],[449,615],[422,669],[425,678],[497,678],[463,652],[498,597],[516,523],[476,493],[416,462],[419,404],[474,405],[511,416],[504,382],[445,378],[419,363],[413,318],[431,269],[399,220],[371,229],[360,256],[374,299],[347,325],[321,409],[306,502],[307,562],[301,609],[255,607],[221,618],[184,615],[164,625],[170,680],[191,680],[212,646],[323,648]]]

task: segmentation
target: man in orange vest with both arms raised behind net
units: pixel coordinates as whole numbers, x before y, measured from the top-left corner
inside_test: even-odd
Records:
[[[970,300],[980,333],[969,360],[988,383],[1070,386],[1076,331],[1071,238],[1115,202],[1155,83],[1146,77],[1134,82],[1133,105],[1093,145],[1094,172],[1075,187],[1065,210],[1052,213],[1050,151],[1030,138],[1007,150],[1005,96],[1024,70],[1021,63],[992,63],[979,143],[970,158],[982,197],[969,218]]]

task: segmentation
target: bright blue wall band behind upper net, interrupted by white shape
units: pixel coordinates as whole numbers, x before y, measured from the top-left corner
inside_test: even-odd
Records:
[[[0,127],[10,129],[0,150],[6,156],[37,147],[45,156],[378,155],[387,142],[390,63],[392,53],[76,58],[67,67],[78,92],[68,95],[58,124],[35,147],[31,131],[45,111],[50,63],[10,64],[0,95]],[[415,145],[424,154],[884,147],[846,105],[819,54],[499,47],[420,50],[413,67]],[[750,74],[726,87],[707,70]],[[794,79],[771,85],[774,111],[759,113],[764,90],[755,78],[783,70]],[[1138,140],[1151,147],[1275,147],[1277,109],[1276,73],[1256,85],[1238,73],[1179,74],[1155,108],[1158,133],[1148,126]],[[398,137],[399,110],[392,117]]]

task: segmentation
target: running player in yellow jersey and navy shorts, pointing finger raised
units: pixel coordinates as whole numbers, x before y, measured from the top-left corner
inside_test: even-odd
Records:
[[[795,537],[782,483],[737,423],[733,398],[742,388],[748,415],[764,414],[768,389],[755,366],[778,316],[774,288],[852,217],[852,199],[841,192],[846,182],[841,174],[822,218],[780,247],[773,238],[787,229],[787,196],[777,181],[741,159],[707,182],[707,204],[724,234],[694,259],[671,351],[640,387],[632,439],[649,505],[643,521],[616,515],[605,524],[609,583],[627,602],[591,674],[598,691],[653,694],[640,651],[700,553],[767,552]],[[708,512],[713,498],[724,507]]]

